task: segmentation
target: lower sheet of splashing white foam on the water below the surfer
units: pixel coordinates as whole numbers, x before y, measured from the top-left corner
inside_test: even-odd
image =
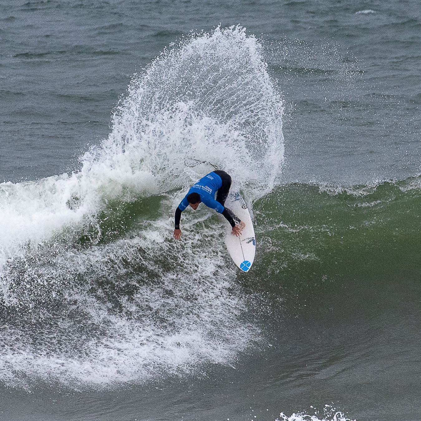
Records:
[[[202,259],[200,268],[195,265],[200,274],[194,276],[188,271],[190,259],[197,261],[204,250],[192,250],[192,245],[177,256],[167,244],[164,251],[183,262],[173,270],[161,269],[160,276],[157,264],[168,262],[152,261],[151,256],[163,253],[162,244],[146,237],[61,256],[61,270],[88,284],[65,293],[66,311],[72,317],[44,315],[44,320],[37,320],[40,346],[27,341],[19,328],[4,330],[2,380],[27,387],[29,378],[30,383],[54,381],[80,389],[200,372],[205,363],[232,364],[258,331],[241,321],[245,306],[227,280],[232,271],[226,271],[222,255],[219,261],[215,256]],[[148,270],[127,274],[127,261],[130,266],[139,264],[136,253],[146,255]],[[107,285],[101,286],[104,276]],[[120,288],[130,292],[121,295]],[[54,329],[40,328],[45,322]]]

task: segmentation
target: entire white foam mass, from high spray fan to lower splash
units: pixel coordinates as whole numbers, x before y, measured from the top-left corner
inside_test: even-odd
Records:
[[[223,222],[186,213],[174,243],[173,211],[195,176],[184,166],[192,157],[231,173],[249,200],[269,192],[283,160],[282,111],[255,37],[239,27],[191,34],[133,78],[109,137],[79,172],[1,184],[0,301],[10,322],[0,381],[139,382],[232,364],[257,341],[221,250]],[[146,202],[152,217],[121,232],[116,222],[117,240],[101,243],[101,212],[151,195],[160,195]]]

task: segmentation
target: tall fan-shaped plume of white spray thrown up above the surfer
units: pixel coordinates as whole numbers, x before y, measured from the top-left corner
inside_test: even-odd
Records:
[[[186,158],[207,160],[237,186],[254,180],[252,199],[270,191],[283,162],[283,107],[266,67],[244,28],[181,40],[133,79],[99,160],[124,149],[165,190],[186,187]]]

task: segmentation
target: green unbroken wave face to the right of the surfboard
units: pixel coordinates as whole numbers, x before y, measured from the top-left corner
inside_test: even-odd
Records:
[[[278,187],[255,204],[254,270],[271,288],[375,282],[419,272],[420,179]]]

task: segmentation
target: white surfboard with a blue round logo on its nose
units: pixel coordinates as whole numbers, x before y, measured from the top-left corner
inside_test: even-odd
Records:
[[[256,253],[256,237],[254,235],[253,222],[244,199],[240,193],[230,193],[226,207],[234,212],[235,216],[245,223],[240,237],[232,235],[231,226],[227,227],[225,233],[226,248],[234,263],[243,271],[248,272],[254,261]]]

